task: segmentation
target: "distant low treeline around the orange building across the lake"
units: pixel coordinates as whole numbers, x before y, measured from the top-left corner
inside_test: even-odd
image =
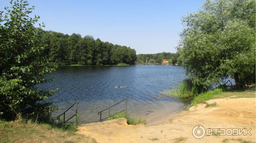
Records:
[[[169,64],[180,64],[177,61],[179,53],[154,53],[154,54],[138,54],[137,63],[158,63],[162,62],[162,59],[168,59]]]

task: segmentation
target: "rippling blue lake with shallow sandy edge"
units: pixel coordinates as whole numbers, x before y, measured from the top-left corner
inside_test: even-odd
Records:
[[[180,66],[59,66],[55,72],[45,76],[47,79],[54,77],[55,81],[40,84],[39,89],[60,88],[55,95],[47,99],[60,107],[52,116],[61,114],[79,101],[80,124],[99,121],[99,111],[125,98],[129,98],[128,115],[145,118],[148,123],[186,108],[186,104],[178,98],[160,94],[186,78],[185,71]],[[125,109],[125,102],[111,108],[111,112],[122,109]],[[74,111],[75,108],[72,108],[67,112],[66,119],[72,116]],[[102,112],[102,118],[107,116],[108,110]]]

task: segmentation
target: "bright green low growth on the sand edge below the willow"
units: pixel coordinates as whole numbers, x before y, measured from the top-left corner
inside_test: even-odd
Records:
[[[191,106],[194,106],[198,103],[205,103],[205,101],[212,99],[214,95],[218,95],[222,93],[222,89],[217,88],[215,90],[209,90],[206,93],[201,93],[198,96],[195,96],[191,101]]]

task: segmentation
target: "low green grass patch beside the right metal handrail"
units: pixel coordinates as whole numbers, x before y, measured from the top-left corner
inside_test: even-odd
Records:
[[[138,124],[146,125],[147,124],[145,119],[143,119],[143,118],[138,118],[138,119],[131,118],[128,115],[126,115],[125,112],[117,113],[116,115],[113,115],[110,118],[108,118],[108,120],[119,119],[119,118],[126,118],[128,125],[138,125]]]

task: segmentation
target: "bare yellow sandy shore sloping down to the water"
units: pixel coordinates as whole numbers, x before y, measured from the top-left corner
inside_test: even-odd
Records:
[[[126,119],[84,124],[79,134],[89,135],[98,143],[242,143],[255,142],[255,98],[212,99],[215,107],[198,104],[153,126],[127,125]],[[196,125],[205,129],[252,129],[252,135],[192,136]]]

